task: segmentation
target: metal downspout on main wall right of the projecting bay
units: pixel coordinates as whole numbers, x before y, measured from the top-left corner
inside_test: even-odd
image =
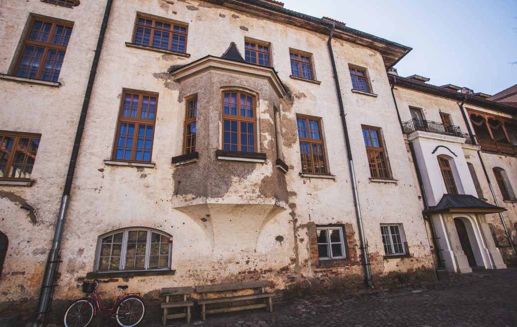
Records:
[[[357,227],[359,231],[359,240],[361,243],[361,255],[362,255],[362,264],[364,268],[364,281],[366,284],[371,287],[375,288],[375,285],[372,281],[372,271],[370,267],[370,259],[368,257],[368,243],[366,239],[364,238],[364,229],[362,226],[362,217],[361,217],[361,207],[359,204],[359,195],[357,193],[357,181],[355,177],[355,171],[354,171],[354,161],[352,158],[352,150],[350,147],[350,139],[348,138],[348,129],[346,127],[346,118],[345,118],[345,110],[343,106],[343,99],[341,96],[341,87],[339,86],[339,79],[338,79],[338,70],[336,68],[336,60],[334,60],[334,53],[332,51],[332,36],[334,35],[334,29],[336,28],[336,24],[332,24],[332,30],[330,32],[330,36],[327,41],[328,46],[328,52],[330,55],[330,61],[332,63],[332,72],[334,74],[334,82],[336,83],[336,92],[338,96],[339,101],[339,108],[340,108],[340,116],[341,116],[341,123],[343,124],[343,133],[345,135],[345,145],[346,145],[346,153],[348,155],[348,167],[350,169],[350,177],[352,179],[352,191],[354,193],[354,206],[357,216]]]

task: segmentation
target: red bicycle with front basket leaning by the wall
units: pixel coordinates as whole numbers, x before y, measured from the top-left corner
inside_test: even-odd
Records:
[[[88,294],[86,299],[77,300],[72,303],[65,313],[64,323],[66,327],[85,327],[97,313],[102,317],[110,317],[117,320],[122,327],[133,327],[138,325],[145,314],[145,302],[140,293],[126,293],[129,286],[119,285],[117,299],[113,307],[104,308],[97,292],[99,283],[108,283],[94,279],[94,282],[83,282],[83,292]],[[124,294],[122,294],[124,292]]]

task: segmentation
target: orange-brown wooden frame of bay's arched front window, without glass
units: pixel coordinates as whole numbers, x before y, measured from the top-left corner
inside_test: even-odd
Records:
[[[225,94],[231,94],[231,93],[236,93],[237,94],[237,115],[231,115],[231,114],[225,114],[224,113],[224,95]],[[245,96],[248,96],[248,97],[251,97],[253,99],[253,109],[252,109],[252,112],[253,112],[253,117],[242,117],[239,115],[240,113],[240,96],[241,95],[245,95]],[[221,148],[222,150],[224,151],[242,151],[242,144],[241,144],[241,129],[240,129],[240,123],[241,122],[247,122],[247,123],[253,123],[253,142],[254,142],[254,148],[255,150],[254,151],[245,151],[245,152],[250,152],[250,153],[258,153],[258,123],[257,123],[257,115],[256,115],[256,103],[257,103],[257,97],[249,92],[246,92],[246,91],[241,91],[241,90],[223,90],[222,91],[222,97],[221,97],[221,114],[222,114],[222,128],[221,128]],[[230,111],[231,113],[231,111]],[[233,120],[233,121],[237,121],[237,150],[232,150],[231,149],[231,146],[233,145],[233,143],[230,143],[230,150],[228,149],[224,149],[224,145],[226,143],[224,143],[224,121],[225,120]],[[249,135],[249,133],[246,133]],[[231,142],[231,141],[230,141]],[[249,145],[245,145],[247,147],[249,147]]]

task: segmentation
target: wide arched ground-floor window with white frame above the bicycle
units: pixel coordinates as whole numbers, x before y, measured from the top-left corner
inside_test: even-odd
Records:
[[[171,267],[172,237],[154,229],[127,228],[101,236],[96,271],[164,270]]]

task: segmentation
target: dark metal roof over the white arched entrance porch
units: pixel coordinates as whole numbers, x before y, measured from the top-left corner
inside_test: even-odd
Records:
[[[497,207],[481,201],[469,194],[444,194],[436,206],[429,207],[423,211],[426,214],[444,212],[473,212],[473,213],[496,213],[503,212],[505,208]]]

